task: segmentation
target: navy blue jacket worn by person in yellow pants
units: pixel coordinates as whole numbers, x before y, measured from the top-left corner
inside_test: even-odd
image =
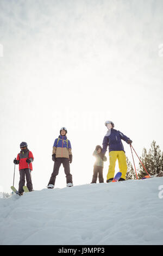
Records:
[[[115,129],[111,129],[111,133],[109,136],[105,136],[103,139],[103,149],[102,149],[102,153],[106,153],[107,147],[109,145],[109,152],[110,151],[124,151],[124,147],[122,144],[121,139],[123,139],[123,141],[128,141],[127,136],[125,136],[122,132],[117,131]],[[125,151],[124,151],[125,153]]]

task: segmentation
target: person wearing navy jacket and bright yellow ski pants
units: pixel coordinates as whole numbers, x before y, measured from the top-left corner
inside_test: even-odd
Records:
[[[127,173],[127,162],[126,162],[126,155],[125,155],[125,151],[124,151],[124,147],[121,139],[123,139],[123,141],[126,141],[128,144],[131,144],[132,141],[122,132],[115,130],[114,123],[112,123],[112,121],[105,121],[105,126],[108,128],[108,132],[106,133],[103,139],[103,149],[102,149],[101,157],[105,155],[107,147],[109,146],[110,164],[109,164],[106,182],[110,182],[112,181],[112,179],[114,179],[115,165],[116,165],[117,159],[118,159],[120,172],[122,173],[122,176],[119,181],[125,180],[126,173]]]

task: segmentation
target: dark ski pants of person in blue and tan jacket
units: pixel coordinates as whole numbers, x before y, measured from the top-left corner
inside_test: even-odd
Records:
[[[56,176],[59,173],[59,168],[62,165],[64,166],[65,174],[66,174],[66,182],[67,183],[72,183],[72,175],[70,173],[70,162],[69,159],[65,157],[58,157],[57,160],[54,162],[54,168],[53,168],[53,173],[51,175],[51,179],[49,180],[49,184],[55,184],[55,179]]]

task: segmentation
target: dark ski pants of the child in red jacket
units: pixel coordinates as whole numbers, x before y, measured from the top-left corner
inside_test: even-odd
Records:
[[[27,181],[27,187],[29,191],[33,191],[32,179],[31,179],[31,170],[30,169],[21,169],[20,171],[20,181],[18,184],[18,192],[24,192],[23,186],[25,185],[25,176]]]

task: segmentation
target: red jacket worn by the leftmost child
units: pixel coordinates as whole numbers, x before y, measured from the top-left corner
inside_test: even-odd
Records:
[[[27,152],[22,153],[22,151],[17,155],[17,159],[19,161],[19,170],[21,169],[30,169],[32,170],[32,162],[29,163],[29,167],[28,167],[28,163],[26,162],[27,159],[30,160],[34,160],[33,154],[31,151],[27,150]]]

